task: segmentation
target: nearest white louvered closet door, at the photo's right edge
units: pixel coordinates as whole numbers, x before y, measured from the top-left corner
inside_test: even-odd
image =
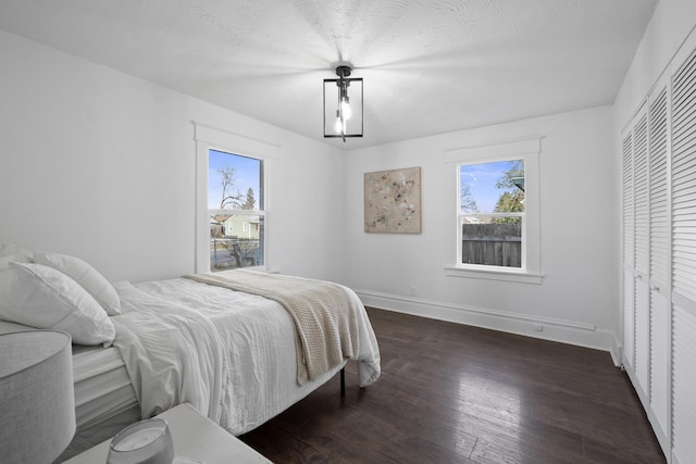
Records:
[[[696,456],[696,53],[676,70],[671,83],[672,443],[678,462],[689,463]]]

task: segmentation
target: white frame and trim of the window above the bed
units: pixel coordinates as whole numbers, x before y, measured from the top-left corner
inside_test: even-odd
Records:
[[[274,243],[271,230],[271,176],[273,164],[277,161],[278,147],[275,145],[249,139],[236,134],[194,122],[196,142],[196,231],[195,231],[195,272],[211,272],[210,263],[210,217],[208,209],[208,170],[210,150],[260,160],[262,162],[263,210],[225,210],[226,213],[244,215],[263,215],[263,265],[254,269],[270,272],[271,259],[274,255]],[[259,214],[261,213],[261,214]]]

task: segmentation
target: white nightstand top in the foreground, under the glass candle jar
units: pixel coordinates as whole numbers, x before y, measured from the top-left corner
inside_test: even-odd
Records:
[[[271,463],[217,424],[200,415],[188,403],[179,404],[158,417],[169,423],[174,439],[174,454],[177,456],[206,464]],[[99,443],[65,462],[104,464],[110,442]]]

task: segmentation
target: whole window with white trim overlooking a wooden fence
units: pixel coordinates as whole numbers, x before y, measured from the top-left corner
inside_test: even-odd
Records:
[[[539,152],[538,138],[445,152],[457,173],[447,275],[542,283]]]

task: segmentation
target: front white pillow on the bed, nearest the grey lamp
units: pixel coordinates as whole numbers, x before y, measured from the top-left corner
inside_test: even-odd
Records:
[[[108,347],[113,323],[75,280],[52,267],[10,263],[0,269],[0,318],[69,333],[74,343]]]

